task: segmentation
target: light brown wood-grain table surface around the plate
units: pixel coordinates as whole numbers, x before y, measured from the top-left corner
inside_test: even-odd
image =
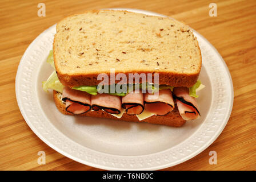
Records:
[[[37,15],[45,3],[46,16]],[[217,16],[209,16],[209,4]],[[234,106],[217,140],[201,154],[166,170],[256,169],[256,1],[3,1],[0,2],[0,169],[99,170],[75,162],[43,143],[23,119],[15,97],[15,75],[29,44],[67,15],[85,10],[128,7],[155,11],[189,24],[222,55],[234,84]],[[45,151],[46,164],[37,163]],[[217,164],[209,164],[209,152]]]

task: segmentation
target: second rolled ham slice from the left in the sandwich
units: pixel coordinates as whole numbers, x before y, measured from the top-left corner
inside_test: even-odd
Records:
[[[110,94],[102,93],[96,96],[91,96],[91,106],[93,110],[103,109],[110,114],[121,113],[121,97],[112,96]]]

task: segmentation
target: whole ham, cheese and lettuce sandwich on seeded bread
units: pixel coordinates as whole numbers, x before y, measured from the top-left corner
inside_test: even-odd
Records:
[[[200,117],[202,56],[190,27],[95,10],[62,19],[56,30],[43,89],[53,90],[61,113],[174,127]]]

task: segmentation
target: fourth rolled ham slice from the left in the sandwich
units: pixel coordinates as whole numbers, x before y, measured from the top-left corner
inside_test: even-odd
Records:
[[[158,93],[144,94],[145,110],[156,115],[166,115],[174,109],[173,94],[170,89],[159,90]]]

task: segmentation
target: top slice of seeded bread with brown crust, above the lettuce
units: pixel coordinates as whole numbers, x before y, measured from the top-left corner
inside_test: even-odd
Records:
[[[98,74],[109,75],[114,68],[127,78],[129,73],[159,73],[159,84],[189,87],[201,71],[193,30],[171,18],[95,10],[68,16],[56,29],[54,63],[66,86],[97,85]]]

